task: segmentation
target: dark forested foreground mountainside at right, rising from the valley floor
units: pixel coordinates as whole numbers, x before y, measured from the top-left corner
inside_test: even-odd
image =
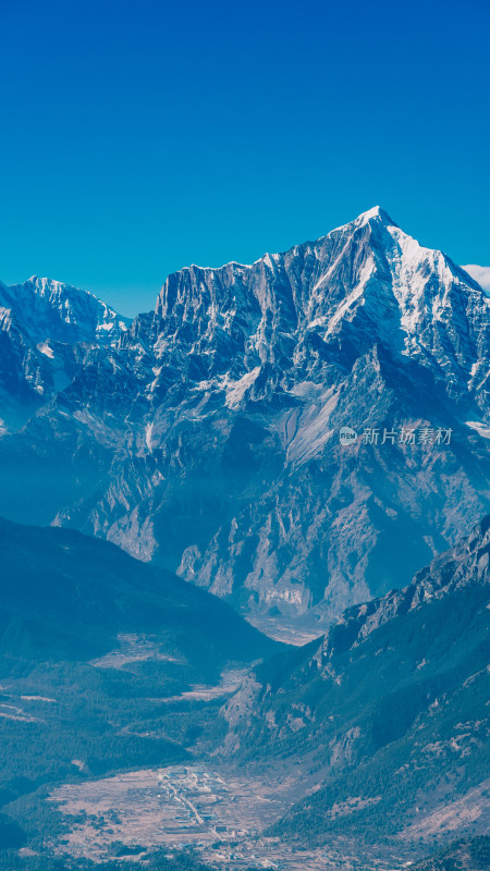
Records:
[[[489,556],[486,517],[408,587],[254,668],[226,703],[224,752],[301,763],[316,780],[274,834],[430,844],[485,833]]]

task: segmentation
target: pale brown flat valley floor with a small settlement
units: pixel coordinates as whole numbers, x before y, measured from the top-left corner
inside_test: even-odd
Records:
[[[203,764],[69,784],[50,796],[68,827],[62,843],[52,846],[95,861],[113,855],[114,844],[132,852],[138,844],[175,850],[192,846],[207,864],[230,870],[400,871],[414,858],[412,849],[378,846],[365,848],[359,856],[358,843],[346,838],[306,849],[294,842],[264,837],[260,832],[297,797],[294,777],[274,782]]]

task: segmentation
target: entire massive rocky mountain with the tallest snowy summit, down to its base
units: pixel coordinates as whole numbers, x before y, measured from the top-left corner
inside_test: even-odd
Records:
[[[52,384],[0,461],[29,470],[30,519],[108,538],[257,619],[322,625],[407,584],[489,508],[489,306],[378,208],[252,266],[192,266],[126,331],[103,316],[91,341],[56,333]],[[12,384],[30,383],[27,356]],[[343,446],[343,426],[378,443]]]

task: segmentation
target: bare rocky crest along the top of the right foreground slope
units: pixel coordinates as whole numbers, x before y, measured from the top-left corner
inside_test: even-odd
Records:
[[[456,635],[457,616],[454,616],[454,602],[477,601],[475,612],[479,609],[483,615],[483,627],[488,627],[489,617],[486,611],[488,611],[490,585],[489,562],[490,516],[487,516],[474,527],[468,537],[463,538],[455,547],[437,556],[428,566],[417,572],[406,587],[391,590],[382,597],[351,606],[330,626],[324,636],[293,653],[291,651],[282,653],[282,661],[281,658],[277,658],[273,662],[258,666],[255,672],[252,671],[243,680],[237,692],[222,708],[221,713],[229,726],[224,750],[246,748],[248,745],[245,736],[249,735],[253,728],[256,729],[258,723],[270,724],[273,722],[274,728],[269,728],[268,740],[277,738],[281,731],[283,737],[294,731],[290,723],[290,711],[295,706],[287,704],[287,701],[291,702],[293,697],[294,699],[296,696],[301,697],[302,689],[305,687],[309,687],[310,690],[311,686],[315,687],[315,692],[309,691],[309,696],[315,699],[316,706],[323,702],[323,695],[327,695],[333,685],[342,687],[346,684],[355,699],[358,687],[355,682],[350,683],[348,677],[353,662],[364,661],[367,663],[366,668],[370,667],[371,670],[372,688],[376,687],[376,691],[382,694],[388,687],[388,678],[383,675],[382,657],[390,651],[397,651],[401,668],[405,670],[405,678],[413,679],[416,676],[415,673],[424,668],[427,662],[425,660],[414,661],[407,655],[412,640],[411,633],[406,630],[405,626],[411,622],[418,625],[425,619],[422,628],[430,642],[437,639],[438,634],[443,637],[451,622],[455,624],[456,631],[453,628],[453,636],[451,636],[451,642],[454,643],[451,655],[448,654],[444,660],[443,648],[438,649],[438,657],[441,660],[441,667],[443,667],[446,660],[457,657],[458,646],[464,651],[464,645]],[[462,598],[468,593],[473,599]],[[434,608],[441,602],[445,603],[446,609],[453,612],[451,621],[446,621],[444,626],[441,621],[441,616],[444,616],[444,609]],[[422,621],[417,619],[419,615],[422,615]],[[473,613],[468,611],[465,619],[469,621]],[[465,619],[461,621],[462,627]],[[382,627],[383,631],[381,633],[379,630]],[[485,636],[483,629],[482,638]],[[377,651],[377,657],[381,657],[381,659],[378,662],[371,661],[369,666],[373,639],[382,639],[379,641],[381,647]],[[421,651],[424,651],[424,642],[421,634],[417,640]],[[481,646],[483,655],[486,648],[487,645]],[[365,650],[369,651],[369,655],[365,653]],[[471,658],[468,657],[466,666],[471,668],[474,664]],[[380,672],[379,680],[378,672]],[[453,690],[457,691],[458,688],[458,685],[455,684]],[[339,690],[339,692],[342,691]],[[369,694],[369,685],[367,685],[366,692]],[[287,694],[291,696],[289,700]],[[286,699],[286,701],[284,699],[281,701],[283,722],[279,723],[279,712],[272,713],[272,711],[278,699],[283,696]],[[346,703],[345,700],[343,703]],[[308,719],[311,728],[324,727],[324,717],[315,717],[311,710]],[[485,720],[487,721],[488,717],[486,716]],[[260,728],[258,732],[260,733]],[[258,749],[258,752],[262,751],[264,747]],[[271,748],[268,747],[267,752],[270,751]]]

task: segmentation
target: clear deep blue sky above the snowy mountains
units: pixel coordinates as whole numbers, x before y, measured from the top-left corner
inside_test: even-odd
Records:
[[[376,204],[490,265],[488,0],[1,0],[0,279],[154,307]]]

